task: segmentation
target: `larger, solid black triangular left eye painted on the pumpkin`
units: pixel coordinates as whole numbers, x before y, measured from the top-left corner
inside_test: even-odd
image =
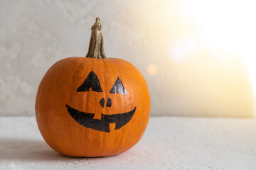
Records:
[[[77,91],[90,91],[90,88],[92,88],[92,91],[102,92],[100,81],[94,72],[88,74],[87,78],[82,85],[78,87]]]

